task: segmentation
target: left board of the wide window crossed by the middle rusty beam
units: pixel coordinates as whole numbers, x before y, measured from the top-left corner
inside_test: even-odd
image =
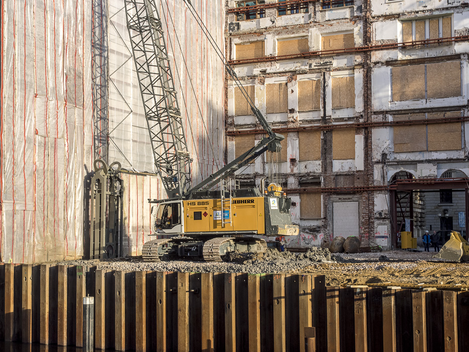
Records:
[[[394,121],[424,120],[425,114],[395,115]],[[394,127],[394,151],[396,153],[427,150],[425,125]]]

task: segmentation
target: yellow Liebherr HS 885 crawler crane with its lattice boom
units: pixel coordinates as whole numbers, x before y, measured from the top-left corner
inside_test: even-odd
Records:
[[[197,12],[184,0],[191,13]],[[282,187],[270,184],[264,190],[232,187],[231,176],[264,152],[279,152],[285,137],[274,133],[254,105],[233,68],[214,44],[201,21],[202,32],[217,50],[227,73],[246,98],[266,136],[242,155],[228,162],[196,186],[192,186],[192,158],[187,148],[182,117],[166,50],[163,26],[155,0],[125,0],[127,27],[139,79],[145,118],[156,170],[168,199],[150,200],[154,233],[142,249],[145,260],[162,257],[203,257],[221,261],[230,251],[261,252],[266,241],[254,236],[297,235],[292,225],[292,201]],[[200,19],[199,19],[200,20]],[[177,68],[177,67],[176,67]],[[218,187],[218,190],[214,190]]]

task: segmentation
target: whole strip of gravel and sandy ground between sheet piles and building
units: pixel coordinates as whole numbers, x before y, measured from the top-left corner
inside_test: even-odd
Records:
[[[434,252],[384,251],[378,253],[331,254],[314,247],[307,252],[241,255],[234,253],[224,262],[165,260],[144,262],[141,257],[112,260],[71,260],[65,265],[96,266],[116,271],[176,271],[193,273],[312,273],[326,276],[326,284],[431,284],[469,285],[469,263],[434,258]]]

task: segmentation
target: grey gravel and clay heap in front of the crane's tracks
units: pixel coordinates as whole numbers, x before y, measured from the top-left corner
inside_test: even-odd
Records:
[[[276,274],[301,272],[313,263],[334,262],[336,254],[327,248],[314,247],[304,253],[279,252],[268,248],[264,253],[230,253],[224,262],[194,260],[165,260],[144,262],[141,257],[127,257],[109,260],[68,260],[61,265],[81,265],[97,267],[100,270],[115,271],[174,271],[187,273],[249,273]]]

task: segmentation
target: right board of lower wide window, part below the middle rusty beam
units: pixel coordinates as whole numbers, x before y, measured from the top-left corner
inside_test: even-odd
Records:
[[[460,150],[461,130],[460,122],[428,125],[428,150]]]

